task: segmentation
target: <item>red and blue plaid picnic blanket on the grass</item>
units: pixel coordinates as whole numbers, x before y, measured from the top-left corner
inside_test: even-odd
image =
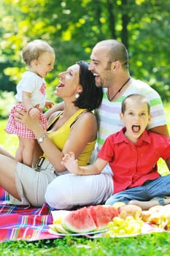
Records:
[[[36,208],[14,206],[8,201],[9,194],[0,187],[0,242],[61,237],[48,232],[48,225],[53,222],[53,208],[46,203],[41,208]]]

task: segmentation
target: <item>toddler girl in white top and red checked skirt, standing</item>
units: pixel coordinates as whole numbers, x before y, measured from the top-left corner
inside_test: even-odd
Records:
[[[15,120],[16,108],[24,109],[32,117],[39,116],[44,129],[47,129],[47,119],[42,113],[44,107],[51,108],[53,102],[46,100],[45,76],[53,69],[55,52],[45,41],[36,39],[23,48],[23,61],[28,71],[23,73],[23,78],[17,86],[15,105],[10,114],[5,131],[18,135],[19,146],[15,158],[19,162],[31,166],[34,153],[35,136],[27,127]]]

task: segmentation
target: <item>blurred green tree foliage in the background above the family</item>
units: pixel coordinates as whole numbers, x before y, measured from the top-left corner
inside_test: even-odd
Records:
[[[42,38],[56,52],[47,86],[58,72],[88,60],[101,39],[120,39],[129,52],[131,75],[169,99],[170,2],[161,0],[1,0],[1,90],[15,91],[23,72],[20,52],[26,42]]]

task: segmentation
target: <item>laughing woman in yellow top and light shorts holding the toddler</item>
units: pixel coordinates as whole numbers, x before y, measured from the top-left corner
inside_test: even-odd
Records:
[[[61,72],[59,78],[55,95],[63,99],[64,109],[48,118],[47,131],[39,118],[32,118],[24,110],[18,110],[15,116],[36,136],[34,157],[42,156],[36,166],[16,162],[0,148],[0,186],[23,205],[42,206],[47,185],[68,173],[61,164],[63,155],[74,151],[79,165],[87,165],[96,143],[97,121],[91,110],[101,104],[103,93],[95,86],[88,63],[77,62]]]

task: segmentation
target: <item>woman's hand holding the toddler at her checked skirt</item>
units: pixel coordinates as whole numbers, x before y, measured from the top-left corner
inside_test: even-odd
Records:
[[[15,120],[26,125],[26,127],[32,131],[34,131],[34,128],[40,124],[39,116],[31,117],[27,112],[20,110],[19,108],[16,108]]]

